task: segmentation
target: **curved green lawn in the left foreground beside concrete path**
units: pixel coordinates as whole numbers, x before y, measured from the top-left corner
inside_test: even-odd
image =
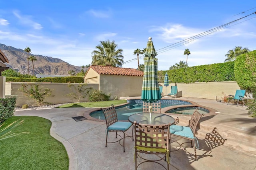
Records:
[[[0,169],[68,170],[65,147],[50,135],[51,121],[36,116],[12,116],[3,127],[18,119],[24,119],[24,123],[12,129],[12,133],[29,133],[0,141]]]

